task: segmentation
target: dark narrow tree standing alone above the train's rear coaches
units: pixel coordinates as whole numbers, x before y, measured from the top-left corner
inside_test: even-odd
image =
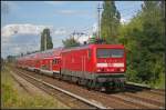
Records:
[[[46,41],[45,41],[46,38]],[[46,42],[46,46],[45,46]],[[44,47],[48,49],[53,48],[52,38],[50,36],[50,29],[45,28],[43,32],[41,33],[41,51],[44,51]]]

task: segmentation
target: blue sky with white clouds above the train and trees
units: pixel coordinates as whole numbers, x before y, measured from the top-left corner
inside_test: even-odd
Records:
[[[40,33],[50,28],[53,47],[74,31],[89,36],[97,29],[102,1],[1,1],[1,57],[40,49]],[[121,22],[127,23],[143,1],[115,1]]]

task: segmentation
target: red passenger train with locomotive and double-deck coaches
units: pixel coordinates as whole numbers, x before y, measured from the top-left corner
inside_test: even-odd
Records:
[[[123,88],[126,52],[122,44],[56,48],[18,59],[18,67],[93,89]]]

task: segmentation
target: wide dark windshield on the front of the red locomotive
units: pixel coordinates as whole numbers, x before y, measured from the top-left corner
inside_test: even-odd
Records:
[[[123,49],[97,49],[97,58],[122,58],[124,56]]]

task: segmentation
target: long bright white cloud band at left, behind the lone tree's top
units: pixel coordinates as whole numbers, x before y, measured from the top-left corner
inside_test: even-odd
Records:
[[[8,40],[11,36],[14,34],[34,34],[39,36],[43,31],[44,28],[49,28],[53,36],[55,34],[64,34],[64,29],[53,29],[52,26],[35,26],[35,24],[7,24],[1,30],[1,36],[3,40]]]

